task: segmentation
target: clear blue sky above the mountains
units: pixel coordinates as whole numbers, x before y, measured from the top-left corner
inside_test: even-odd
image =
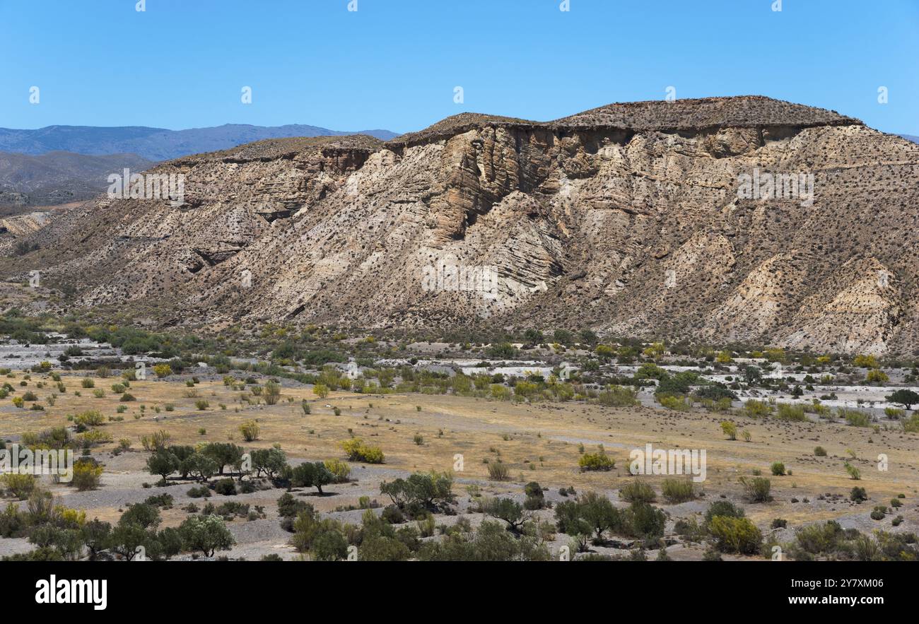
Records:
[[[556,119],[673,85],[919,134],[919,0],[348,1],[147,0],[139,13],[136,0],[0,0],[0,127],[402,132],[465,110]]]

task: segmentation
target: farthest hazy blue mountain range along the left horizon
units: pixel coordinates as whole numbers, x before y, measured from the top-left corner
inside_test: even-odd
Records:
[[[347,132],[318,126],[249,126],[224,124],[212,128],[165,130],[143,126],[101,128],[96,126],[48,126],[38,130],[0,128],[0,152],[39,155],[74,152],[92,155],[136,153],[150,161],[162,161],[191,153],[226,150],[243,143],[289,137],[345,136],[369,134],[382,141],[399,136],[390,130]]]

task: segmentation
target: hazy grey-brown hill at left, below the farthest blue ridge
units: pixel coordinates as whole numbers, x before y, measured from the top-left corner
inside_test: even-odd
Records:
[[[105,192],[110,174],[125,168],[141,172],[150,165],[152,161],[133,153],[0,152],[0,206],[51,206],[92,199]]]

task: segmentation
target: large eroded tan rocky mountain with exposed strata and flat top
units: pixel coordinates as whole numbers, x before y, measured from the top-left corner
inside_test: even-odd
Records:
[[[96,199],[6,254],[164,325],[592,327],[919,352],[919,145],[761,96],[462,114],[390,142],[176,159],[185,203]],[[8,261],[7,261],[8,260]]]

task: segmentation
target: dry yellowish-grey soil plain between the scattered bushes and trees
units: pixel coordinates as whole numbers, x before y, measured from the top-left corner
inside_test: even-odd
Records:
[[[5,381],[18,387],[26,375],[14,370],[12,378]],[[657,490],[655,505],[668,514],[665,539],[667,555],[675,560],[699,560],[706,550],[703,543],[693,543],[675,535],[674,524],[680,518],[701,514],[713,501],[726,498],[743,505],[747,517],[763,531],[766,540],[779,543],[794,538],[794,529],[815,521],[834,519],[843,528],[857,528],[868,534],[875,529],[892,532],[916,531],[919,528],[917,486],[919,486],[919,436],[904,433],[897,424],[880,425],[879,428],[854,427],[843,423],[783,422],[775,419],[754,419],[743,415],[730,416],[739,432],[746,430],[750,440],[741,435],[736,440],[726,437],[720,427],[723,414],[711,414],[699,408],[680,413],[638,406],[609,408],[587,403],[512,403],[482,398],[427,394],[357,394],[336,391],[324,399],[317,397],[312,386],[291,380],[281,380],[281,397],[277,404],[250,404],[241,401],[241,392],[224,384],[223,376],[213,369],[199,369],[195,376],[198,396],[189,397],[187,380],[192,375],[172,375],[165,380],[148,379],[130,382],[130,393],[136,402],[121,403],[119,395],[109,391],[111,384],[119,381],[117,371],[108,379],[95,378],[96,389],[106,391],[106,396],[96,398],[92,390],[81,388],[85,374],[63,372],[62,381],[67,391],[61,393],[49,375],[31,373],[28,389],[34,391],[41,403],[45,396],[57,394],[54,405],[45,405],[45,411],[29,411],[13,407],[8,402],[0,405],[0,423],[3,438],[10,441],[26,432],[38,432],[53,426],[69,425],[68,414],[97,410],[109,416],[123,416],[123,420],[97,427],[113,440],[93,448],[93,457],[105,465],[101,484],[96,490],[78,492],[74,487],[53,484],[42,477],[42,484],[60,497],[60,502],[71,508],[85,509],[88,518],[98,517],[115,523],[127,506],[142,502],[153,494],[169,493],[175,504],[165,509],[163,527],[176,527],[187,516],[183,507],[189,503],[201,505],[203,499],[191,499],[187,490],[190,481],[177,481],[174,475],[170,485],[157,487],[158,476],[145,469],[150,453],[143,450],[143,435],[165,430],[171,444],[195,445],[202,442],[233,441],[246,449],[270,448],[280,445],[291,464],[302,460],[346,459],[340,442],[350,437],[361,437],[379,446],[385,453],[385,463],[369,465],[351,462],[351,482],[328,485],[325,494],[318,496],[313,488],[295,488],[293,494],[310,502],[323,516],[335,517],[343,522],[359,524],[363,513],[358,509],[361,496],[369,496],[380,503],[389,504],[380,494],[380,482],[404,477],[414,471],[452,471],[455,477],[453,492],[457,495],[456,515],[437,515],[438,525],[451,525],[465,516],[472,526],[484,517],[472,511],[474,504],[469,486],[478,486],[485,496],[509,496],[517,501],[524,499],[524,484],[539,482],[545,489],[547,501],[557,504],[566,500],[560,488],[573,488],[580,494],[596,491],[605,494],[614,505],[626,507],[619,500],[618,489],[634,479],[641,479]],[[248,375],[237,373],[242,383]],[[9,377],[9,376],[7,376]],[[151,375],[153,377],[153,375]],[[257,377],[257,376],[256,376]],[[43,388],[36,388],[43,380]],[[264,383],[267,378],[258,378]],[[76,396],[80,392],[82,396]],[[196,402],[206,400],[209,406],[199,409]],[[311,405],[311,414],[304,414],[301,401]],[[173,411],[165,411],[171,403]],[[119,405],[127,411],[118,414]],[[142,410],[143,406],[143,410]],[[225,409],[222,408],[225,406]],[[335,410],[340,414],[335,414]],[[239,425],[255,419],[260,427],[258,438],[251,443],[242,440]],[[417,443],[416,435],[422,438]],[[113,453],[119,440],[130,440],[130,449]],[[644,448],[694,448],[707,451],[707,480],[698,484],[703,495],[695,501],[667,505],[660,494],[664,477],[633,477],[629,473],[630,450]],[[584,445],[591,452],[603,445],[607,455],[616,460],[612,471],[583,472],[578,459]],[[7,445],[8,446],[8,445]],[[822,446],[826,457],[815,457],[814,448]],[[77,454],[79,454],[79,450]],[[887,456],[886,470],[879,467],[879,454]],[[461,456],[459,458],[458,456]],[[460,460],[461,459],[461,460]],[[509,479],[495,482],[489,479],[487,460],[501,459],[509,468]],[[458,463],[458,460],[459,463]],[[784,462],[791,475],[772,476],[770,464]],[[861,480],[853,481],[845,471],[849,461],[861,472]],[[774,500],[751,504],[744,497],[739,479],[748,478],[756,471],[771,479]],[[145,486],[144,484],[150,484]],[[850,502],[853,486],[864,487],[868,501],[857,505]],[[474,487],[472,488],[474,493]],[[218,554],[230,558],[258,559],[276,553],[284,559],[299,559],[290,544],[290,533],[279,527],[278,497],[283,489],[260,489],[251,494],[238,494],[234,501],[264,507],[265,517],[247,520],[237,517],[228,523],[236,540],[232,550]],[[880,520],[871,519],[875,505],[888,505],[891,498],[904,494],[902,507]],[[231,497],[215,494],[208,499],[219,505]],[[22,503],[20,505],[25,505]],[[891,526],[894,516],[903,516],[897,527]],[[551,523],[553,511],[536,512],[540,519]],[[788,521],[787,528],[771,528],[775,518]],[[603,546],[591,546],[598,553],[627,556],[632,547],[630,539],[614,539]],[[428,538],[428,539],[437,539]],[[553,556],[559,556],[563,546],[569,544],[567,536],[550,537],[548,546]],[[0,554],[31,550],[26,539],[0,539]],[[652,559],[659,553],[648,550]],[[190,555],[183,553],[179,558]],[[724,559],[742,558],[723,555]],[[767,557],[751,557],[765,560]]]

